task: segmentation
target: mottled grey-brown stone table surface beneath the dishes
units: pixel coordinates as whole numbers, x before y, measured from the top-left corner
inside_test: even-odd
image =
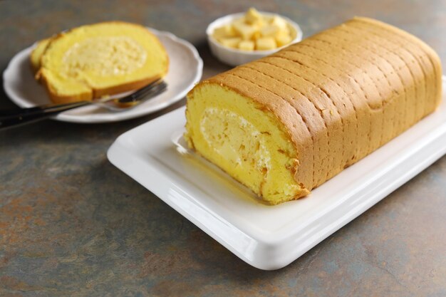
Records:
[[[254,1],[0,1],[0,68],[66,28],[133,21],[192,42],[209,77],[204,29]],[[304,36],[355,15],[420,36],[446,61],[445,1],[256,1],[299,22]],[[0,296],[446,296],[446,157],[278,271],[224,249],[110,165],[135,120],[51,120],[0,131]],[[13,108],[3,90],[0,108]]]

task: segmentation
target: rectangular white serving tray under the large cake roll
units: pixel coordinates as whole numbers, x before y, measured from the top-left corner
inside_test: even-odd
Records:
[[[243,261],[280,269],[445,155],[445,97],[435,113],[308,197],[274,207],[182,147],[185,108],[120,135],[108,159]]]

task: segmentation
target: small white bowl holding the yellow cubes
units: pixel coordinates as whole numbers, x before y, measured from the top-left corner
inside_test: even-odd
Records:
[[[291,41],[291,43],[286,44],[285,46],[281,46],[280,48],[274,48],[274,50],[269,50],[269,51],[242,51],[237,48],[228,48],[226,46],[223,46],[217,40],[215,40],[215,38],[212,36],[212,33],[214,33],[214,30],[216,28],[229,24],[235,19],[242,18],[242,16],[244,16],[245,13],[241,12],[238,14],[228,14],[227,16],[223,16],[219,19],[216,19],[211,24],[209,24],[209,26],[207,26],[206,29],[207,42],[209,43],[209,47],[211,48],[212,54],[214,54],[214,56],[216,56],[223,63],[227,63],[230,66],[238,66],[244,63],[254,61],[259,58],[263,58],[264,56],[271,55],[271,53],[275,53],[276,51],[279,51],[282,48],[289,46],[292,43],[296,43],[302,40],[301,27],[299,27],[299,25],[296,24],[294,21],[291,21],[291,19],[270,12],[259,11],[259,13],[264,16],[280,16],[286,21],[291,31],[294,31],[296,37],[293,39],[293,41]]]

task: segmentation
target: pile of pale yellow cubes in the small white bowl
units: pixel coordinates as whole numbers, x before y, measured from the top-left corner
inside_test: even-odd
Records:
[[[243,51],[267,51],[291,43],[296,35],[280,16],[265,16],[250,8],[240,19],[216,28],[212,36],[223,46]]]

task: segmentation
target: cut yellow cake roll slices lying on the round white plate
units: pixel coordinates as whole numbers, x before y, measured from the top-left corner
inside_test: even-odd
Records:
[[[169,59],[147,28],[120,21],[81,26],[38,43],[31,64],[56,103],[142,88],[166,75]],[[40,56],[40,58],[39,58]]]

